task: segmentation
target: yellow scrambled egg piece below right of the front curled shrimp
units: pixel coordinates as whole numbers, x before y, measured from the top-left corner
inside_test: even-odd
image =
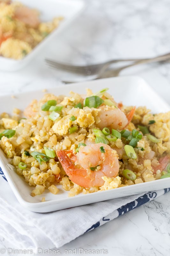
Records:
[[[104,185],[100,187],[100,191],[108,190],[112,188],[118,188],[121,185],[121,177],[110,178],[103,176],[102,179],[105,181]]]

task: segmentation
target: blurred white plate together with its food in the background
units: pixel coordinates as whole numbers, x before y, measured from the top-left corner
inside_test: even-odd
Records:
[[[83,8],[81,0],[0,1],[0,69],[24,67]]]

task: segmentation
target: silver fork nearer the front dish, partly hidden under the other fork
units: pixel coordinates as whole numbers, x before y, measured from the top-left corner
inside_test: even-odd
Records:
[[[107,78],[107,77],[114,77],[114,76],[119,76],[120,72],[125,69],[125,68],[130,68],[139,64],[147,64],[147,63],[153,63],[153,62],[159,62],[159,61],[166,61],[166,60],[170,60],[170,53],[166,54],[166,55],[161,55],[152,59],[146,59],[146,60],[139,60],[139,61],[135,61],[132,64],[123,66],[121,68],[115,68],[115,69],[109,69],[105,72],[101,72],[95,76],[91,76],[89,80],[95,80],[95,79],[100,79],[100,78]],[[85,81],[85,80],[84,80]],[[70,83],[76,83],[79,82],[78,80],[74,80],[74,81],[64,81],[62,80],[63,83],[65,84],[70,84]],[[82,82],[82,80],[81,80]]]

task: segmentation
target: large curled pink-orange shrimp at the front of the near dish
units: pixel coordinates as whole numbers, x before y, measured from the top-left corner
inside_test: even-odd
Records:
[[[105,153],[100,151],[100,147],[105,149]],[[69,179],[82,187],[100,187],[104,184],[103,176],[113,178],[119,172],[118,155],[106,144],[97,143],[85,147],[81,146],[76,155],[77,160],[75,157],[67,155],[71,152],[71,150],[69,152],[59,150],[56,154]],[[80,168],[77,168],[73,163],[75,160]],[[95,169],[91,170],[92,167]]]

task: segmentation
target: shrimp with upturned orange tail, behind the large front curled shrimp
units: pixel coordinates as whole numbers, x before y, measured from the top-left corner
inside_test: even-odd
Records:
[[[126,116],[120,108],[106,108],[105,106],[101,106],[99,108],[101,111],[98,113],[98,117],[101,121],[99,124],[97,124],[97,127],[100,130],[102,130],[104,127],[108,127],[109,129],[122,130],[132,120],[135,108],[136,107],[132,108],[132,110]]]

